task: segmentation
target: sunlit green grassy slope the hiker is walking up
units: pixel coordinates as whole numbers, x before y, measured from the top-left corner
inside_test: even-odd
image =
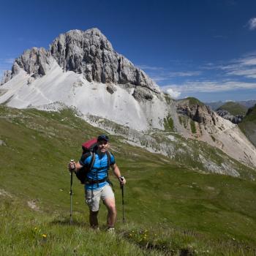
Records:
[[[111,136],[127,178],[125,218],[115,179],[117,233],[90,230],[83,187],[74,181],[69,222],[67,162],[102,133],[71,110],[0,106],[0,251],[3,255],[254,255],[255,181],[204,174]],[[31,209],[34,203],[38,211]],[[44,237],[43,235],[46,235]]]

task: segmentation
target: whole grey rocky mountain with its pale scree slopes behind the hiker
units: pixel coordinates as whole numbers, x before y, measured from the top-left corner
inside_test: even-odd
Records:
[[[72,34],[75,34],[74,38]],[[154,84],[152,87],[151,79],[146,74],[136,75],[139,69],[127,59],[123,59],[124,67],[117,71],[118,59],[115,58],[119,58],[119,55],[105,39],[95,29],[69,31],[53,40],[50,48],[53,54],[43,48],[27,50],[15,60],[12,78],[0,87],[0,103],[13,108],[41,110],[59,110],[65,106],[75,108],[86,121],[93,120],[91,122],[94,126],[103,125],[104,129],[113,132],[119,132],[119,128],[115,130],[113,127],[128,127],[131,132],[124,136],[131,142],[138,141],[143,134],[149,135],[148,140],[151,140],[150,136],[154,132],[173,132],[184,138],[204,141],[246,165],[256,166],[256,149],[236,125],[217,116],[197,99],[171,99],[159,91],[158,87],[154,87]],[[86,42],[91,42],[91,45],[87,45],[88,52],[83,53]],[[102,46],[100,42],[105,44]],[[74,46],[76,44],[78,47]],[[113,81],[120,81],[120,78],[121,83],[97,81],[102,79],[99,74],[104,74],[104,70],[112,63],[111,58],[111,61],[100,62],[102,54],[108,56],[108,53],[103,53],[104,48],[108,48],[107,52],[116,56],[111,68],[116,70],[116,74],[121,74],[116,77],[113,73],[110,78],[117,79]],[[92,53],[91,49],[94,49]],[[66,53],[70,58],[66,58]],[[95,58],[91,69],[87,69],[86,56],[90,54],[99,58]],[[84,58],[80,59],[80,56]],[[91,59],[87,60],[89,64],[90,61]],[[86,75],[90,74],[96,81],[86,79]],[[143,77],[146,80],[140,79]],[[122,80],[123,78],[126,80]],[[143,83],[147,83],[146,86]],[[138,145],[143,146],[141,143]],[[238,152],[234,148],[242,150]],[[167,154],[171,151],[171,146],[164,144],[154,150]],[[204,158],[198,158],[198,161],[207,162]],[[232,168],[230,172],[232,173]]]

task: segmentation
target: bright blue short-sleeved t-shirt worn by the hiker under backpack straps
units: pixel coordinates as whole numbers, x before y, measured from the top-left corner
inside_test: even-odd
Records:
[[[91,157],[89,156],[87,158],[84,157],[84,155],[80,158],[80,165],[83,166],[89,166],[91,162]],[[113,154],[110,153],[110,165],[114,165],[116,163],[115,157]],[[103,178],[106,178],[108,176],[108,155],[104,154],[100,156],[99,154],[95,153],[95,161],[94,161],[94,166],[91,167],[91,170],[89,173],[87,173],[87,178],[93,181],[99,181]],[[85,189],[92,189],[92,190],[97,190],[100,189],[101,187],[104,187],[106,184],[108,184],[107,181],[103,181],[98,184],[86,184]]]

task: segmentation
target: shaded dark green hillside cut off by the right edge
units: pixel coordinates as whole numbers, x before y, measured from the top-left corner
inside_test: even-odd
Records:
[[[248,110],[239,127],[256,146],[256,105]]]

